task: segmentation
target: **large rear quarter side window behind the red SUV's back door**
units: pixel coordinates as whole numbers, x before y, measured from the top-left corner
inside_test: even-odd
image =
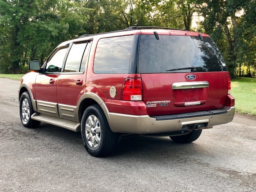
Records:
[[[94,57],[94,73],[128,73],[132,40],[132,35],[100,39]]]

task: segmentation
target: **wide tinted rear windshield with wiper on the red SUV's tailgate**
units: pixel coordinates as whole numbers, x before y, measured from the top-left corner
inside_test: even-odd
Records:
[[[226,71],[226,65],[216,44],[210,37],[199,36],[141,35],[138,72],[173,73]],[[171,71],[168,71],[171,70]]]

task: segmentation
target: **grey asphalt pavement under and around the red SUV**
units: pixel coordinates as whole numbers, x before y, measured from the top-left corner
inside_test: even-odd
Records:
[[[90,156],[80,132],[20,122],[20,82],[0,78],[1,192],[256,192],[256,117],[203,130],[191,144],[168,137],[121,140]]]

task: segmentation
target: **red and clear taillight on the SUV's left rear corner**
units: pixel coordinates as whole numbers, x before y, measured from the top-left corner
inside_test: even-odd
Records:
[[[122,99],[126,101],[142,100],[142,83],[140,78],[128,78],[124,80]]]

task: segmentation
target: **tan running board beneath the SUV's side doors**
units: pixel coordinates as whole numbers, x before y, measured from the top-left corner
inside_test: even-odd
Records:
[[[66,120],[66,119],[49,116],[45,114],[34,113],[32,114],[31,119],[56,125],[56,126],[59,126],[68,130],[72,130],[75,132],[79,132],[81,129],[81,124],[79,122]]]

